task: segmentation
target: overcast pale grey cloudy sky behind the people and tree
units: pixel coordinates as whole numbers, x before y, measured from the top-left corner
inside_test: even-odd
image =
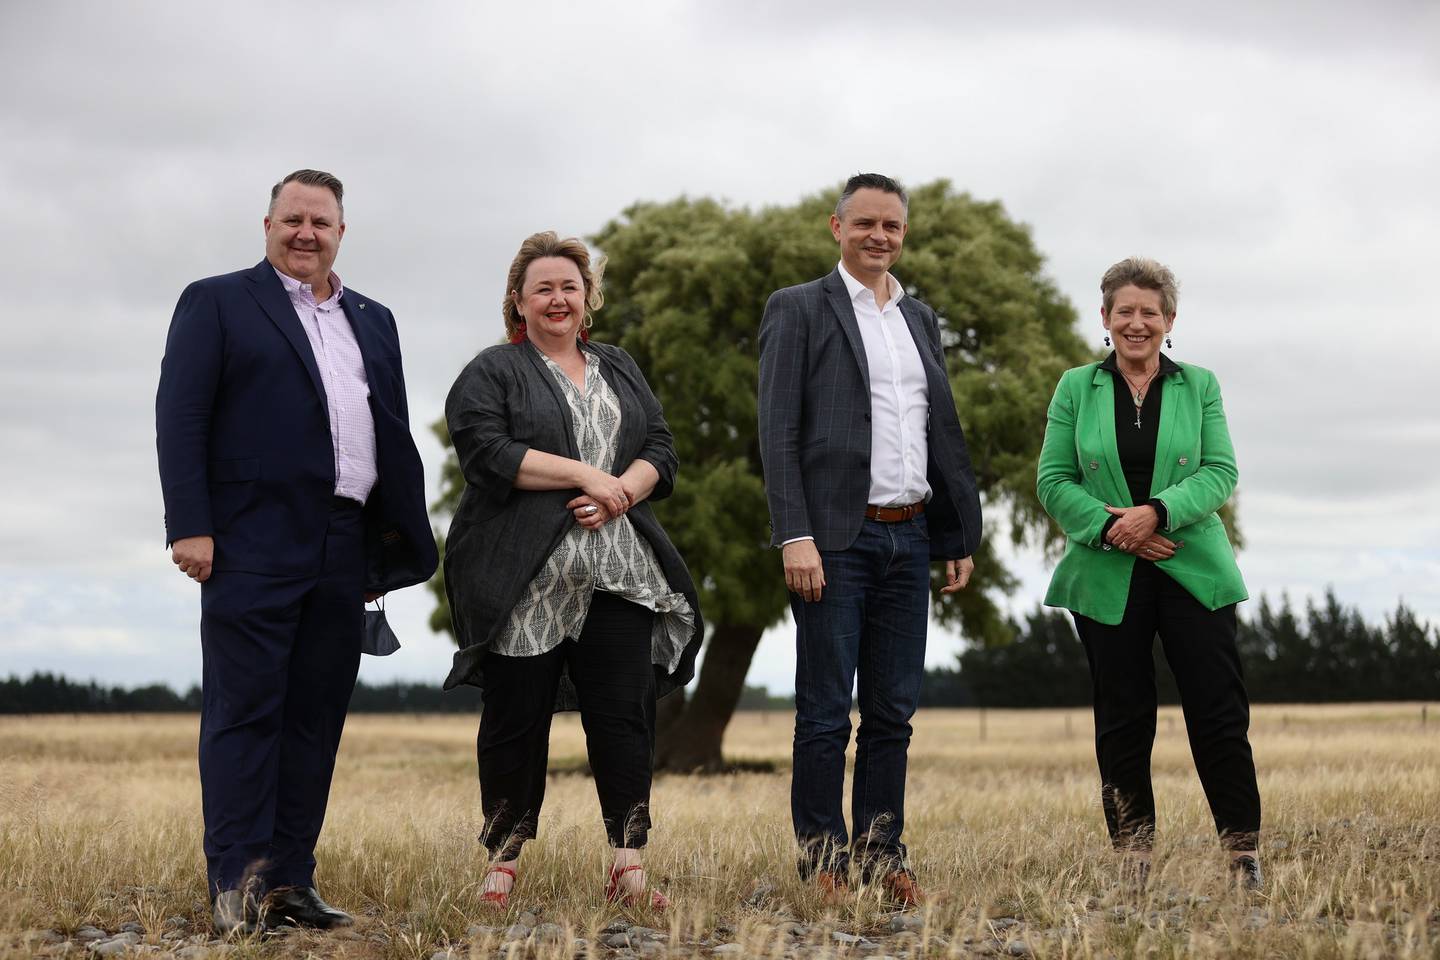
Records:
[[[1440,623],[1440,6],[1171,7],[0,3],[0,675],[197,681],[160,356],[187,282],[261,259],[297,167],[346,181],[337,271],[400,324],[432,495],[425,425],[500,335],[526,235],[949,177],[1032,227],[1096,345],[1109,263],[1176,271],[1172,356],[1221,379],[1254,597],[1332,584]],[[1028,610],[1048,570],[1015,564]],[[428,592],[389,609],[405,649],[361,676],[439,681]],[[956,649],[932,633],[932,662]],[[792,671],[775,629],[752,681]]]

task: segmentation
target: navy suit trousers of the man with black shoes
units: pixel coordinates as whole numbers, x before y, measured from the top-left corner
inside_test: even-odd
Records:
[[[200,793],[210,895],[311,887],[360,669],[360,504],[336,498],[308,577],[217,570],[200,592]]]

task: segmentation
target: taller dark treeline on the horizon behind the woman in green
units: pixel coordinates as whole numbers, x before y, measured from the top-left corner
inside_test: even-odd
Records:
[[[1244,607],[1241,607],[1244,609]],[[926,671],[923,707],[1081,707],[1090,669],[1070,615],[1044,607],[1015,626],[1004,646],[971,648],[952,669]],[[1440,699],[1437,633],[1401,603],[1371,625],[1333,592],[1297,615],[1289,597],[1263,599],[1240,620],[1240,659],[1256,702]],[[1175,678],[1155,643],[1162,704],[1179,702]]]

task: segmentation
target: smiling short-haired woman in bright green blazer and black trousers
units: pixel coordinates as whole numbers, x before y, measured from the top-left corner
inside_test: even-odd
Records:
[[[1176,286],[1143,258],[1106,271],[1100,317],[1115,351],[1056,387],[1038,494],[1067,543],[1045,603],[1074,615],[1090,661],[1104,819],[1130,877],[1143,885],[1155,836],[1159,633],[1215,829],[1237,879],[1257,888],[1260,790],[1236,651],[1246,584],[1217,515],[1238,472],[1215,374],[1161,353]]]

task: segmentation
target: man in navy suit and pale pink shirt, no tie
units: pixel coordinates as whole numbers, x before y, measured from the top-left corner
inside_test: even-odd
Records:
[[[156,396],[166,538],[200,583],[200,790],[220,933],[351,917],[315,842],[364,602],[435,571],[390,311],[331,271],[344,189],[275,184],[265,259],[180,295]]]

